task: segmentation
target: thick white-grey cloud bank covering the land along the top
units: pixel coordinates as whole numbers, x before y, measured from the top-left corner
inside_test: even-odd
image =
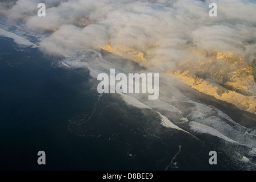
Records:
[[[112,46],[146,51],[144,65],[161,71],[192,57],[194,49],[239,52],[248,63],[256,53],[253,1],[216,0],[217,17],[209,16],[211,1],[45,0],[46,17],[37,16],[39,2],[18,0],[7,18],[33,31],[55,30],[41,42],[47,53],[100,48],[111,39]]]

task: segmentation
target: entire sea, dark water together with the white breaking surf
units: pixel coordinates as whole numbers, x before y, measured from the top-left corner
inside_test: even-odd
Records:
[[[113,57],[91,50],[75,59],[46,56],[37,41],[2,34],[0,169],[256,169],[255,129],[217,107],[177,88],[168,102],[98,94],[97,71],[129,72]],[[37,164],[38,151],[46,152],[46,165]],[[217,165],[209,164],[210,151]]]

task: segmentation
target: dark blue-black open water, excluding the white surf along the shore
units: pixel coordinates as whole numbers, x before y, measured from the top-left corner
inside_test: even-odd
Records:
[[[37,48],[0,38],[0,58],[0,169],[230,169],[222,155],[217,166],[208,162],[218,138],[205,135],[205,143],[163,127],[152,110],[99,96],[89,80],[51,67],[54,58]],[[39,166],[41,150],[46,165]]]

